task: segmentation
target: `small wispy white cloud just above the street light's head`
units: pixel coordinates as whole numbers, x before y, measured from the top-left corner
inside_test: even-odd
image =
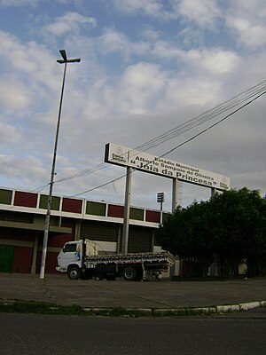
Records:
[[[47,25],[43,28],[43,32],[53,36],[64,36],[67,33],[79,33],[81,26],[95,27],[97,21],[92,17],[83,16],[77,12],[66,12],[62,17],[56,19],[54,23]]]

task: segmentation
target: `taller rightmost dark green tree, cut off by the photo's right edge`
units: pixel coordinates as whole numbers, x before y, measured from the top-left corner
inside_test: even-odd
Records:
[[[244,187],[216,193],[209,207],[213,224],[210,232],[216,240],[222,274],[228,269],[231,277],[237,276],[241,261],[248,263],[249,268],[252,260],[258,264],[258,258],[263,259],[266,232],[266,206],[260,192]]]

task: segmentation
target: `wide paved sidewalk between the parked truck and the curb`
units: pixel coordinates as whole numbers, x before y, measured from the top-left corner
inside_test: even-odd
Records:
[[[173,309],[228,304],[266,305],[266,278],[227,281],[129,282],[69,280],[66,275],[0,273],[0,302],[12,300],[90,308]]]

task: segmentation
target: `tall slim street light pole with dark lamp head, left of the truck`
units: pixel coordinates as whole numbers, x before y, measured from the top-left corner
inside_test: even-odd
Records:
[[[45,225],[44,225],[44,235],[43,235],[43,254],[42,254],[42,261],[41,261],[41,271],[40,271],[40,279],[44,279],[44,272],[45,272],[45,263],[46,263],[46,254],[47,254],[47,244],[48,244],[48,236],[49,236],[49,228],[50,228],[50,219],[51,219],[51,196],[52,196],[52,188],[54,183],[54,176],[55,176],[55,165],[57,159],[57,150],[58,150],[58,141],[59,141],[59,127],[60,127],[60,120],[61,120],[61,110],[63,104],[63,96],[64,96],[64,89],[65,89],[65,80],[66,80],[66,64],[67,63],[79,63],[81,59],[67,59],[66,51],[62,50],[59,51],[63,59],[57,60],[59,64],[65,64],[64,67],[64,75],[63,75],[63,82],[62,82],[62,89],[61,89],[61,97],[60,97],[60,104],[59,104],[59,117],[58,117],[58,124],[54,142],[54,149],[53,149],[53,158],[51,164],[51,179],[50,179],[50,189],[49,189],[49,197],[48,197],[48,206],[47,212],[45,217]]]

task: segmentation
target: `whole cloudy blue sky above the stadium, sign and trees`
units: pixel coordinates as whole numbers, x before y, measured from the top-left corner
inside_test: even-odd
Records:
[[[0,0],[0,188],[48,192],[60,50],[81,62],[67,64],[53,194],[123,203],[126,171],[104,162],[106,143],[144,145],[258,83],[266,88],[266,2]],[[265,111],[262,95],[147,153],[172,150],[166,158],[264,195]],[[170,211],[171,190],[171,179],[135,171],[131,205],[160,209],[164,192]],[[178,192],[183,207],[210,197],[186,183]]]

